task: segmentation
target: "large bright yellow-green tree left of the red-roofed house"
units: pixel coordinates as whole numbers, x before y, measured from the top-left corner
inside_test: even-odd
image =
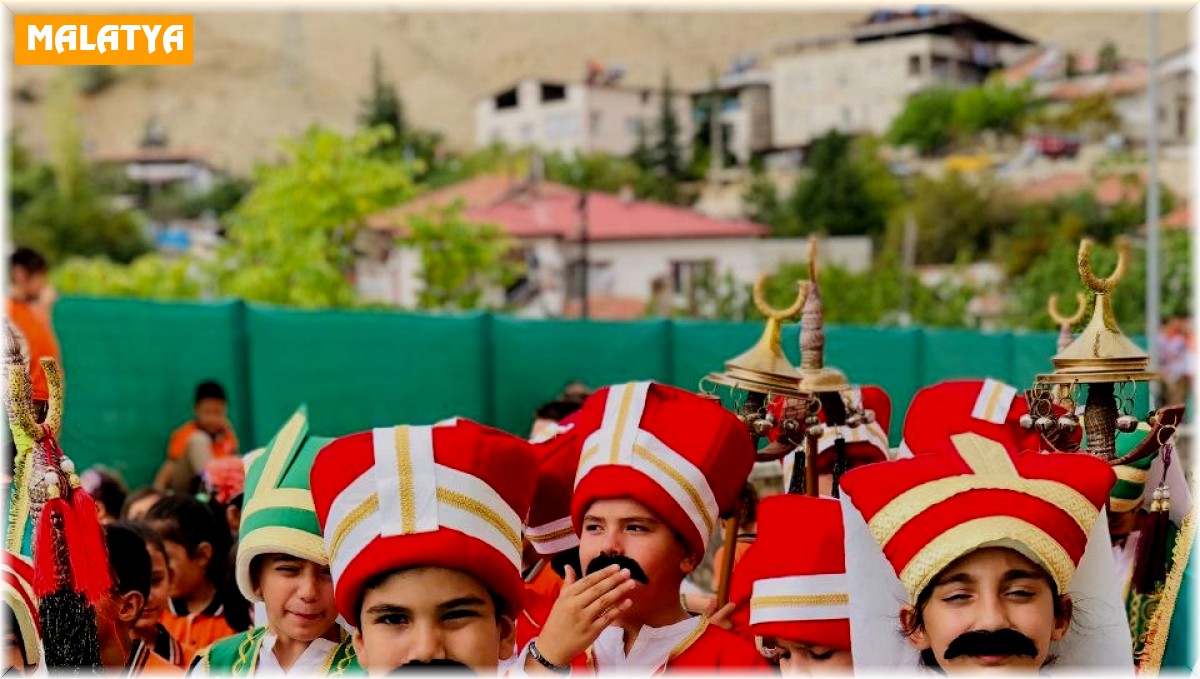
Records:
[[[259,168],[228,216],[221,292],[310,308],[353,304],[348,274],[364,221],[414,194],[404,166],[374,154],[390,139],[386,127],[349,138],[312,127],[286,142],[289,162]]]

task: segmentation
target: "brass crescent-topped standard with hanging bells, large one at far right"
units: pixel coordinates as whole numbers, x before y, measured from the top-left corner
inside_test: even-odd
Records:
[[[1078,259],[1079,276],[1096,295],[1092,319],[1079,337],[1055,354],[1051,359],[1054,372],[1039,374],[1033,392],[1046,393],[1052,385],[1057,385],[1060,395],[1063,389],[1073,395],[1079,386],[1086,386],[1084,431],[1087,434],[1087,452],[1111,462],[1116,457],[1116,432],[1132,432],[1138,427],[1138,417],[1132,413],[1136,383],[1157,379],[1158,374],[1147,369],[1150,357],[1121,332],[1112,313],[1110,295],[1126,274],[1130,258],[1129,241],[1117,239],[1117,265],[1106,278],[1099,278],[1092,271],[1092,245],[1091,239],[1084,239],[1079,244]],[[1051,317],[1057,316],[1055,311],[1051,308]],[[1074,402],[1073,396],[1070,401]],[[1039,408],[1038,403],[1030,405],[1031,411]],[[1174,414],[1164,413],[1163,426],[1174,427],[1177,423],[1169,420],[1174,420]],[[1039,428],[1049,433],[1054,426]]]

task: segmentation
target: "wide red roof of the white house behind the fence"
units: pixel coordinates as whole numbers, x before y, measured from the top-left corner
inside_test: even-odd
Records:
[[[518,187],[498,175],[484,175],[450,186],[367,218],[371,228],[401,233],[406,220],[432,206],[462,200],[463,216],[497,224],[514,238],[578,240],[578,191],[552,182]],[[624,200],[611,193],[588,197],[588,235],[595,241],[763,238],[768,228],[746,221],[716,220],[685,208]]]

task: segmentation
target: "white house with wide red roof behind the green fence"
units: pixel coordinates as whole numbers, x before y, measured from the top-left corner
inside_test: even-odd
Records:
[[[547,182],[515,182],[490,175],[433,192],[376,215],[370,230],[384,244],[359,262],[356,282],[365,299],[412,307],[420,292],[420,257],[391,245],[408,217],[461,200],[464,216],[498,224],[512,236],[528,265],[527,280],[508,300],[529,317],[580,313],[584,250],[587,292],[593,318],[636,318],[652,305],[696,304],[706,281],[732,276],[739,287],[781,262],[805,258],[800,239],[767,239],[767,228],[718,220],[672,205],[628,196],[592,193],[587,239],[580,193]],[[586,242],[586,245],[584,245]],[[822,262],[862,271],[870,265],[870,239],[830,239]]]

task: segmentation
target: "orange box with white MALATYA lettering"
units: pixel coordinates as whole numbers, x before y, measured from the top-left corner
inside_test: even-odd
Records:
[[[16,14],[17,66],[188,66],[187,14]]]

